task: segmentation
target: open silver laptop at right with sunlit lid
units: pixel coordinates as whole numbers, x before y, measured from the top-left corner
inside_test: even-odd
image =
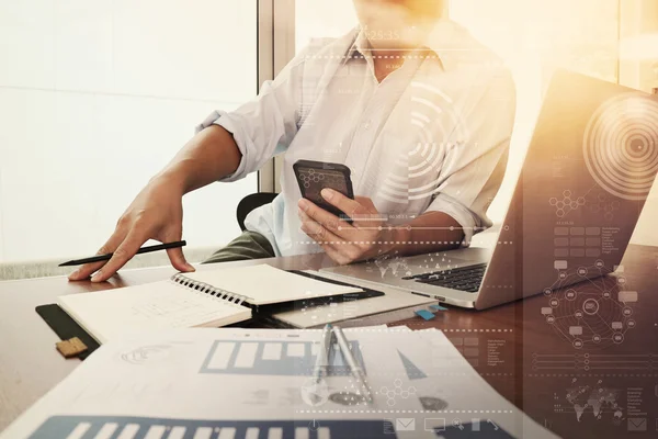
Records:
[[[548,295],[617,269],[657,172],[658,99],[559,70],[492,246],[322,271],[477,309]]]

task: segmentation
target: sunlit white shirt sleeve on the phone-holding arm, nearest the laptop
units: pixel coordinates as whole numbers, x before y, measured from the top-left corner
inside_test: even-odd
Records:
[[[494,74],[480,95],[463,113],[466,138],[447,143],[441,182],[426,210],[453,217],[464,229],[464,246],[491,226],[487,209],[504,177],[517,109],[509,70]]]

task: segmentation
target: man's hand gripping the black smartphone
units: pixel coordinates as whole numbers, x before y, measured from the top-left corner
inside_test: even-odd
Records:
[[[306,199],[299,200],[298,215],[302,230],[336,262],[345,264],[385,255],[395,248],[396,241],[404,239],[405,228],[389,226],[371,199],[356,196],[350,200],[331,189],[324,189],[321,193],[327,202],[352,218],[352,223],[340,219]]]

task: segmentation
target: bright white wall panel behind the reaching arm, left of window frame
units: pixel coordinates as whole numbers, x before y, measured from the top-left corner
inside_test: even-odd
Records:
[[[93,252],[214,109],[257,91],[256,0],[0,0],[0,261]],[[190,246],[239,233],[256,176],[185,198]]]

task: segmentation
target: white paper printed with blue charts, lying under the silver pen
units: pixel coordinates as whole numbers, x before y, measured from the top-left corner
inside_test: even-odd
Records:
[[[483,437],[555,437],[486,384],[440,331],[345,329],[372,405],[336,350],[328,376],[314,383],[320,335],[179,329],[114,340],[0,437],[450,439],[468,437],[475,421],[496,431]]]

